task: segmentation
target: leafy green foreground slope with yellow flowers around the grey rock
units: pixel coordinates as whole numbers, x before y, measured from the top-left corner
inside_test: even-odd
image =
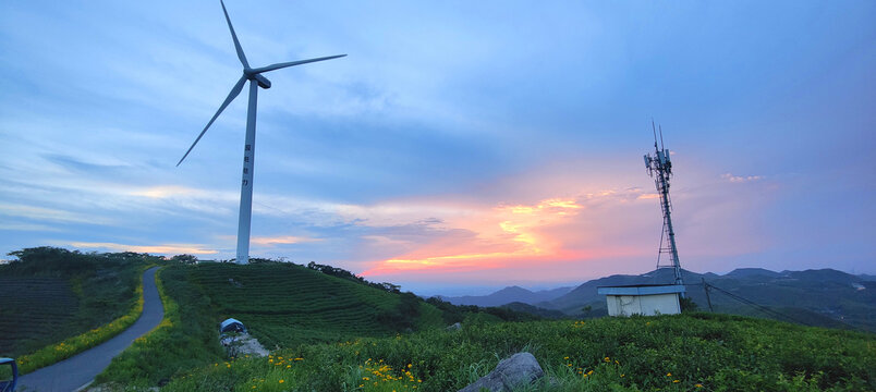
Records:
[[[210,364],[166,390],[454,391],[519,351],[532,352],[549,376],[522,390],[876,389],[871,333],[692,314],[469,324],[303,345],[270,358]]]

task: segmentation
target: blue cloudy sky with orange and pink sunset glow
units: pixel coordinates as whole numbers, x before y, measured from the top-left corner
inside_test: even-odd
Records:
[[[656,266],[876,273],[876,2],[227,2],[258,94],[251,257],[427,294]],[[0,253],[236,245],[218,1],[0,2]],[[11,258],[3,256],[4,258]]]

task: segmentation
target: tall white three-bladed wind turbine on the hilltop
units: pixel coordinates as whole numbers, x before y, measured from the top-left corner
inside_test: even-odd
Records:
[[[238,220],[238,264],[248,264],[250,262],[250,222],[252,220],[252,212],[253,212],[253,166],[255,163],[255,117],[256,117],[256,102],[258,96],[258,87],[261,88],[270,88],[270,81],[267,77],[263,76],[261,74],[265,72],[276,71],[280,69],[284,69],[288,66],[301,65],[316,61],[324,61],[324,60],[331,60],[344,57],[346,54],[338,54],[338,56],[329,56],[309,60],[299,60],[299,61],[291,61],[284,63],[277,63],[271,64],[268,66],[261,68],[250,68],[250,63],[246,61],[246,56],[243,53],[243,49],[241,48],[241,42],[238,40],[238,35],[234,34],[234,26],[231,25],[231,19],[228,16],[228,10],[226,10],[226,3],[220,0],[222,4],[222,12],[226,14],[226,21],[228,22],[228,29],[231,30],[231,38],[234,40],[234,49],[238,51],[238,58],[241,60],[241,64],[243,64],[243,75],[231,88],[231,93],[228,94],[228,98],[222,105],[219,107],[219,110],[216,111],[216,114],[212,115],[212,119],[207,123],[207,126],[204,127],[204,131],[200,131],[200,134],[197,135],[195,143],[192,143],[192,147],[188,147],[188,150],[185,151],[185,155],[177,162],[179,167],[180,163],[188,156],[188,152],[192,152],[192,149],[195,148],[195,145],[200,140],[200,137],[204,136],[204,133],[207,132],[207,128],[212,125],[212,122],[216,121],[216,118],[222,113],[222,110],[226,110],[229,103],[241,94],[243,89],[243,85],[246,81],[250,81],[250,107],[246,110],[246,139],[243,145],[243,180],[241,181],[241,209],[240,209],[240,218]]]

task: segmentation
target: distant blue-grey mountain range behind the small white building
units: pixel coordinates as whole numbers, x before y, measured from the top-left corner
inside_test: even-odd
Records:
[[[876,277],[853,275],[834,269],[781,271],[740,268],[726,274],[682,270],[688,296],[702,310],[708,310],[703,281],[735,296],[786,315],[801,323],[831,328],[857,328],[876,332]],[[510,303],[533,305],[533,311],[559,310],[568,316],[597,317],[607,314],[604,295],[596,287],[625,284],[668,284],[671,269],[640,275],[617,274],[585,282],[577,287],[532,292],[510,286],[484,296],[441,297],[457,305],[502,306]],[[770,317],[718,290],[709,291],[717,313]],[[520,305],[515,306],[521,308]],[[543,308],[539,310],[538,308]],[[526,311],[526,310],[524,310]],[[544,311],[543,311],[544,313]]]

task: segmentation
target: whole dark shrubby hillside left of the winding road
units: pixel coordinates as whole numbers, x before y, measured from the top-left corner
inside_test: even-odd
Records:
[[[0,355],[21,356],[99,328],[136,305],[150,258],[41,247],[0,266]]]

